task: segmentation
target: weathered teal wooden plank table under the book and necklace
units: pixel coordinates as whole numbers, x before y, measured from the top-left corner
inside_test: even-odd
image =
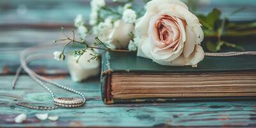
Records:
[[[88,101],[81,108],[36,111],[20,108],[17,101],[51,105],[51,95],[22,74],[16,90],[12,90],[19,53],[27,47],[51,44],[61,38],[60,27],[71,29],[76,13],[88,15],[88,1],[28,0],[0,1],[0,127],[256,127],[256,102],[173,102],[167,104],[105,105],[100,99],[97,77],[74,83],[65,63],[36,60],[33,70],[61,84],[76,88]],[[87,6],[86,6],[87,5]],[[251,8],[252,9],[252,8]],[[60,15],[65,12],[65,17]],[[86,13],[87,12],[87,13]],[[51,52],[50,52],[51,53]],[[45,54],[45,52],[42,52]],[[51,86],[58,96],[73,96]],[[28,120],[15,124],[14,118],[26,113]],[[56,122],[36,119],[37,113],[60,116]]]

